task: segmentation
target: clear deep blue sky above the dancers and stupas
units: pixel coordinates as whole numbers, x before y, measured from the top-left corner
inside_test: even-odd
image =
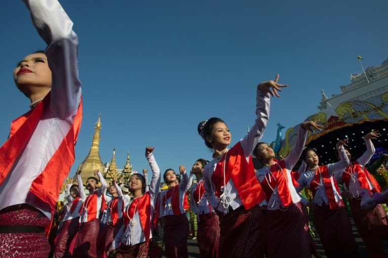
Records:
[[[178,171],[211,151],[201,120],[222,118],[232,144],[255,121],[256,86],[280,74],[289,84],[273,98],[264,142],[276,124],[293,127],[364,67],[388,58],[388,2],[371,1],[60,1],[79,37],[83,121],[70,174],[88,154],[101,113],[100,155],[122,168],[149,168],[154,146],[161,171]],[[45,44],[22,1],[0,8],[0,142],[29,100],[12,77],[16,64]],[[283,135],[285,129],[282,131]]]

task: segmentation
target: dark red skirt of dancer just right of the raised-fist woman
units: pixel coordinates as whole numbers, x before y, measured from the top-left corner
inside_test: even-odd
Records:
[[[164,216],[164,246],[167,258],[185,258],[187,253],[188,220],[186,214]]]

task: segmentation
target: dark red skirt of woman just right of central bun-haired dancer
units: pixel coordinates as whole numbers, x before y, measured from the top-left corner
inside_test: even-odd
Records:
[[[311,241],[302,204],[267,211],[268,257],[311,257]]]

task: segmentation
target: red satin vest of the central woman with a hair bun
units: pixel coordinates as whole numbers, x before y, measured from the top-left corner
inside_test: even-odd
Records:
[[[247,162],[244,149],[240,142],[222,155],[212,174],[212,181],[216,186],[216,195],[220,197],[222,194],[221,186],[224,185],[224,160],[227,162],[225,164],[225,182],[228,182],[229,179],[233,180],[233,184],[237,189],[244,208],[248,210],[261,203],[265,199],[265,194],[255,175],[252,156],[249,156],[249,162]]]

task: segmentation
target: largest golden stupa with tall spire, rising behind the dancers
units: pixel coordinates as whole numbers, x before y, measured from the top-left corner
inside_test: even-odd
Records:
[[[100,172],[104,175],[105,174],[105,167],[103,162],[101,161],[100,157],[100,130],[101,130],[101,114],[99,115],[99,119],[94,125],[94,135],[93,140],[91,142],[91,147],[89,154],[85,158],[84,161],[82,161],[81,164],[79,164],[77,170],[81,170],[81,178],[82,182],[85,184],[86,179],[90,176],[94,176],[93,170],[99,169]],[[75,176],[74,176],[75,177]]]

